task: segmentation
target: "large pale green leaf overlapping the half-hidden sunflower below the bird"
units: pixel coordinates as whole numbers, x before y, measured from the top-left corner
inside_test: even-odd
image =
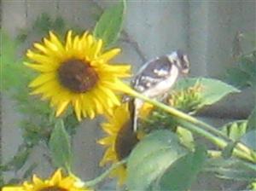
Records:
[[[127,163],[129,190],[148,190],[158,177],[188,151],[170,130],[155,130],[139,142]]]

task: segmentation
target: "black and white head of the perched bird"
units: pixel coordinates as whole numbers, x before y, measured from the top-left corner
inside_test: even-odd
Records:
[[[172,52],[171,55],[168,55],[168,60],[177,66],[181,73],[189,73],[189,58],[182,50],[178,49]]]

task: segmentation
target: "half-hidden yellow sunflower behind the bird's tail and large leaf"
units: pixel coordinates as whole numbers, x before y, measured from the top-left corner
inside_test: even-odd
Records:
[[[105,151],[100,165],[106,165],[108,162],[116,163],[125,159],[132,148],[143,137],[140,133],[135,133],[132,130],[128,103],[124,103],[113,110],[112,116],[107,116],[108,123],[102,124],[102,129],[108,136],[98,141],[99,144],[108,147]],[[152,109],[152,105],[144,103],[140,110],[140,117],[146,118]],[[126,167],[120,165],[110,174],[111,177],[118,178],[119,186],[123,185],[126,179]]]

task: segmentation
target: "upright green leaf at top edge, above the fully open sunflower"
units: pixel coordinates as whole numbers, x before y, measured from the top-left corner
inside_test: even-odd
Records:
[[[113,7],[106,9],[96,23],[93,33],[97,38],[102,38],[105,47],[114,43],[119,37],[125,16],[125,5],[125,0],[120,0]]]

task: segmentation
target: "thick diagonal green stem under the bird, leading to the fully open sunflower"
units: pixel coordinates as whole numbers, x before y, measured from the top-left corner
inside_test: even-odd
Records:
[[[136,91],[133,91],[131,95],[143,101],[147,101],[148,103],[151,103],[154,106],[163,109],[167,113],[171,113],[173,116],[177,117],[177,119],[180,119],[178,121],[180,124],[183,124],[184,127],[195,132],[196,134],[206,137],[207,140],[217,145],[219,148],[224,149],[230,142],[233,142],[233,140],[231,140],[230,137],[226,136],[223,132],[219,131],[217,128],[199,119],[195,119],[189,114],[178,111],[173,107],[166,106],[165,104],[159,101],[152,100],[147,96],[143,96],[142,94],[139,94]],[[253,155],[254,155],[253,150],[250,148],[247,148],[247,146],[242,144],[241,142],[238,142],[236,144],[236,148],[234,148],[233,151],[236,157],[239,157],[241,159],[247,159],[253,163],[256,163],[256,160],[253,159]]]

